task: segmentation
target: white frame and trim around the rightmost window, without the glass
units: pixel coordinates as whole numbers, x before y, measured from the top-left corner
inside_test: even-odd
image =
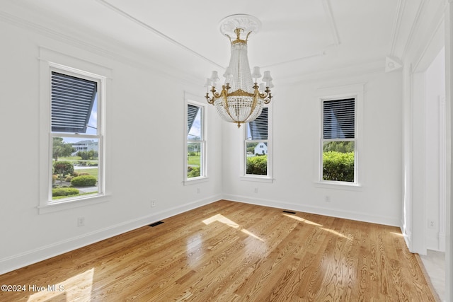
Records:
[[[363,156],[362,156],[362,129],[363,129],[363,98],[365,83],[340,86],[338,88],[321,88],[323,95],[319,100],[319,143],[318,146],[318,167],[316,169],[315,184],[326,188],[343,188],[345,190],[362,190],[363,182]],[[354,139],[323,139],[323,102],[329,100],[355,99],[355,131]],[[323,143],[324,141],[354,141],[354,182],[323,180]]]

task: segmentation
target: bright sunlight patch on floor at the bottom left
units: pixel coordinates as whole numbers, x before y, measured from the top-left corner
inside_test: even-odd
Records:
[[[42,291],[38,291],[28,297],[28,302],[32,301],[49,301],[57,299],[58,301],[83,301],[91,300],[91,287],[93,286],[94,268],[86,272],[77,274],[57,284],[39,284],[43,286]],[[56,300],[55,300],[56,301]]]

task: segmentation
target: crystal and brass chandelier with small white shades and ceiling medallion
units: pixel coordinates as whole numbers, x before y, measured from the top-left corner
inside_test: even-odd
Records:
[[[261,114],[263,106],[270,103],[273,88],[270,71],[264,71],[263,83],[258,86],[261,78],[260,68],[254,67],[253,72],[248,64],[247,41],[251,33],[260,30],[258,18],[249,15],[232,15],[220,21],[220,32],[231,42],[231,57],[229,66],[224,73],[222,91],[216,90],[219,76],[217,71],[206,80],[207,91],[211,86],[211,93],[206,93],[207,103],[214,105],[220,117],[226,122],[241,124],[251,122]],[[232,40],[236,35],[236,40]],[[244,38],[245,37],[245,38]]]

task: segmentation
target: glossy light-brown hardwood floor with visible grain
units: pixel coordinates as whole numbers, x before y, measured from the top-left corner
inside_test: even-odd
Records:
[[[0,301],[435,301],[396,227],[224,200],[163,221],[3,274],[25,291]]]

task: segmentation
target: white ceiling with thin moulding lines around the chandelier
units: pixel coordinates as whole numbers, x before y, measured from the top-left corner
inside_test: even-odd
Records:
[[[200,82],[229,62],[219,21],[250,14],[262,23],[248,39],[250,64],[269,69],[278,83],[348,66],[384,70],[386,56],[406,52],[425,0],[8,1],[28,11],[30,22],[169,62]]]

